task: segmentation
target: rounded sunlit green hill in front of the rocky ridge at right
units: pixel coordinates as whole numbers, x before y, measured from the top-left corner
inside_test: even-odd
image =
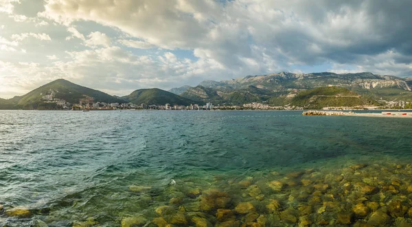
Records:
[[[313,88],[302,91],[290,101],[291,106],[300,106],[306,109],[321,109],[323,107],[355,107],[378,106],[378,102],[358,93],[336,86]]]

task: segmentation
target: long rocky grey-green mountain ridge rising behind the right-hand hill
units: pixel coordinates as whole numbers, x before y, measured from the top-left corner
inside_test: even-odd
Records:
[[[371,99],[412,101],[411,78],[368,72],[342,74],[281,72],[248,75],[220,82],[205,80],[196,87],[185,88],[181,96],[216,104],[240,104],[242,101],[268,101],[269,104],[279,104],[279,99],[293,97],[301,91],[312,88],[328,86],[347,88]],[[206,94],[217,94],[218,97]],[[242,95],[244,97],[240,97]]]

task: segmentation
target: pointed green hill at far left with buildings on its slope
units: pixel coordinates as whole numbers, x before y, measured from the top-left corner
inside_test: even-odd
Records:
[[[0,108],[3,109],[25,109],[25,110],[54,110],[59,107],[54,103],[47,103],[43,98],[45,95],[53,94],[53,98],[64,99],[70,104],[78,104],[80,99],[85,97],[93,98],[93,101],[101,101],[106,103],[124,103],[123,99],[119,99],[103,93],[101,91],[93,90],[78,84],[73,84],[67,80],[59,79],[49,84],[45,84],[39,88],[30,91],[23,96],[16,96],[12,99],[0,100]],[[6,100],[6,101],[3,101]],[[11,106],[10,106],[11,105]]]

